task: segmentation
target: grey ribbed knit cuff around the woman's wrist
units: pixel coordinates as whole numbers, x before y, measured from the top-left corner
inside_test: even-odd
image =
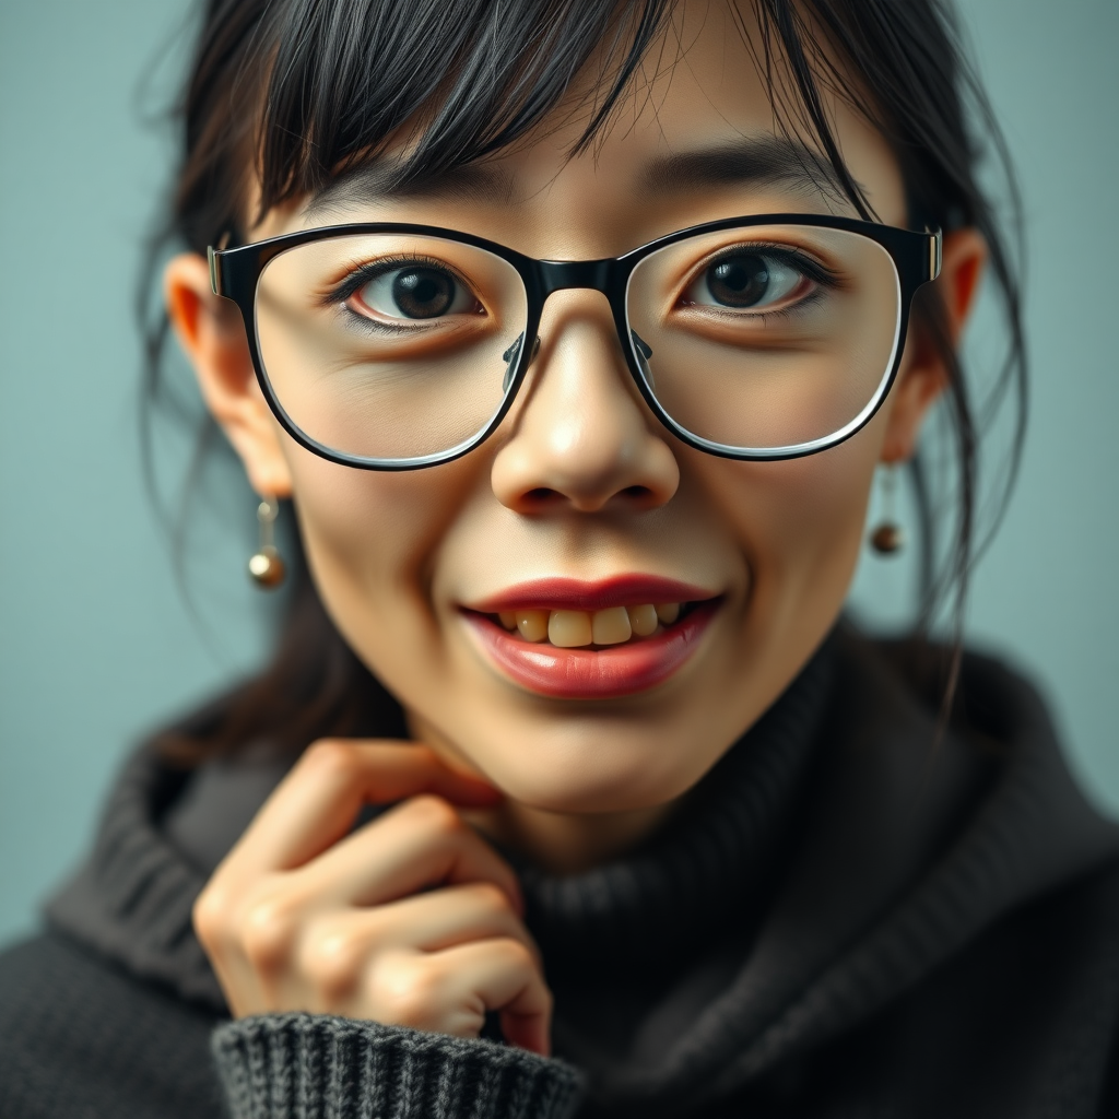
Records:
[[[581,1094],[525,1050],[326,1015],[241,1018],[211,1046],[234,1119],[566,1119]]]

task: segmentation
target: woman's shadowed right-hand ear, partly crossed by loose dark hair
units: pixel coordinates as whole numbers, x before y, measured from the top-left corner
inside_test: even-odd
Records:
[[[959,345],[975,305],[986,263],[987,243],[977,229],[957,229],[944,235],[940,275],[934,283],[953,346]],[[921,423],[947,387],[948,370],[932,340],[911,329],[897,382],[886,402],[890,412],[882,444],[883,462],[902,462],[913,457]]]

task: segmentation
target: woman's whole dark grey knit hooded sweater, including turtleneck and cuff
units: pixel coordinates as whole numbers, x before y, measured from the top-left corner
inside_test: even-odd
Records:
[[[556,1060],[227,1021],[190,904],[282,767],[141,753],[51,931],[0,957],[0,1116],[1119,1113],[1117,830],[990,661],[932,747],[933,668],[841,634],[646,847],[520,868]]]

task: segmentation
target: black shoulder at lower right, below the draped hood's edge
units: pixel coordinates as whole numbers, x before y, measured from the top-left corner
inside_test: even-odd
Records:
[[[1005,913],[799,1071],[874,1113],[1119,1113],[1119,862]]]

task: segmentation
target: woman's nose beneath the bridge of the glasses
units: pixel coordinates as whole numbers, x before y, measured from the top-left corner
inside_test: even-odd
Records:
[[[513,432],[493,460],[498,499],[524,514],[665,505],[679,467],[629,375],[605,298],[554,293],[539,335]]]

